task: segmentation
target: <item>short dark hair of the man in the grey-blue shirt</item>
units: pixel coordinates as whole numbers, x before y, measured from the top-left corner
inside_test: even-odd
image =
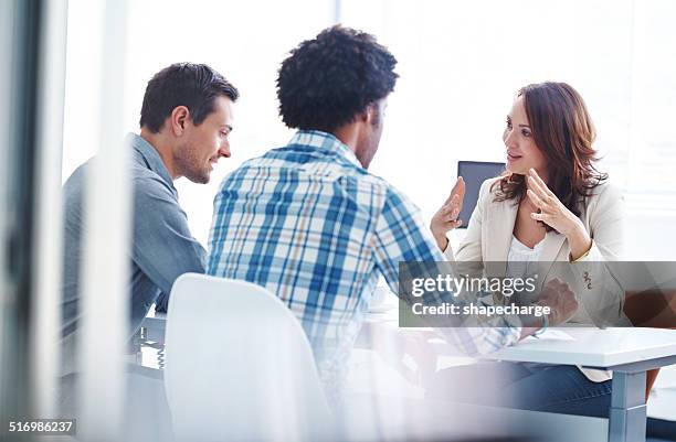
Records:
[[[236,101],[240,93],[205,64],[172,64],[148,82],[139,125],[157,133],[173,109],[186,106],[192,123],[199,126],[213,111],[213,101],[220,96]]]

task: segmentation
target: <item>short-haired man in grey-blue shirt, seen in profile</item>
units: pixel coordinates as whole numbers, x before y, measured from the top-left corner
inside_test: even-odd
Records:
[[[213,165],[230,157],[232,107],[237,89],[207,65],[173,64],[157,73],[146,88],[140,136],[129,133],[133,149],[134,227],[129,280],[130,330],[136,333],[150,305],[186,272],[203,272],[207,252],[192,237],[173,181],[180,176],[209,182]],[[63,327],[64,367],[74,371],[73,342],[78,326],[83,192],[92,159],[66,181]],[[112,226],[112,228],[115,228]]]

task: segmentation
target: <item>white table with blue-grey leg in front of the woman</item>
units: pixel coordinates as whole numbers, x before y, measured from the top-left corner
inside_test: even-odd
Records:
[[[676,331],[559,328],[572,341],[527,338],[490,359],[580,365],[613,370],[609,441],[645,441],[645,371],[676,364]]]

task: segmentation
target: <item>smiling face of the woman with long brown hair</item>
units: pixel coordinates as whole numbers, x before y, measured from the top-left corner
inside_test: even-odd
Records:
[[[506,169],[508,172],[526,175],[532,168],[546,180],[548,176],[547,160],[532,138],[522,96],[514,100],[511,110],[507,115],[507,127],[503,133],[503,141],[507,148]]]

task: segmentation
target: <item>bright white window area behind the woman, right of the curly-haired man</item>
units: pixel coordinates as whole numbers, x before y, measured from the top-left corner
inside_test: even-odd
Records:
[[[585,99],[600,169],[629,207],[676,212],[676,2],[341,1],[399,60],[373,171],[431,215],[457,160],[505,161],[516,90],[560,80]]]

